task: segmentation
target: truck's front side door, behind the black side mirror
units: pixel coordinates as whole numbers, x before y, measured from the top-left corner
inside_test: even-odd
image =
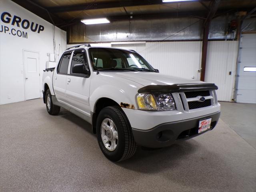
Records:
[[[75,110],[90,116],[90,75],[74,74],[72,67],[76,64],[84,64],[85,68],[90,70],[84,49],[75,50],[72,56],[70,71],[66,80],[67,103]]]

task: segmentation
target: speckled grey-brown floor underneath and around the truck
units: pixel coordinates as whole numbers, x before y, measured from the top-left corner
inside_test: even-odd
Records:
[[[256,149],[220,120],[202,136],[112,163],[88,123],[30,100],[0,106],[0,191],[255,192]]]

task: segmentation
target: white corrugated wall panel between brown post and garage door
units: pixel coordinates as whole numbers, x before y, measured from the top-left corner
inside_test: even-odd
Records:
[[[238,41],[208,42],[205,81],[218,86],[217,95],[220,101],[232,101],[237,49]]]

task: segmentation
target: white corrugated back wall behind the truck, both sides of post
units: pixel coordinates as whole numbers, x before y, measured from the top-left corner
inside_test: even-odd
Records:
[[[101,43],[92,46],[134,49],[160,73],[200,80],[202,42]],[[68,45],[74,46],[74,45]],[[209,41],[205,81],[218,86],[218,100],[232,101],[236,72],[237,41]],[[231,72],[231,75],[229,74]]]

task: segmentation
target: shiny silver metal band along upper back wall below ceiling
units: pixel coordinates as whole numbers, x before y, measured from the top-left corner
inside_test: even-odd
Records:
[[[236,32],[227,32],[233,16],[219,16],[210,24],[208,38],[234,39]],[[254,20],[243,28],[254,29]],[[124,42],[202,39],[202,20],[198,18],[163,18],[151,20],[120,20],[101,25],[82,23],[69,27],[69,43]]]

